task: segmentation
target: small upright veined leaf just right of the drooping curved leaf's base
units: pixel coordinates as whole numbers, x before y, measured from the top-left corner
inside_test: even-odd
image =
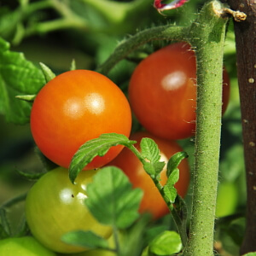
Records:
[[[148,137],[143,137],[140,147],[142,150],[143,157],[148,159],[150,162],[158,162],[160,160],[160,149],[154,140]]]

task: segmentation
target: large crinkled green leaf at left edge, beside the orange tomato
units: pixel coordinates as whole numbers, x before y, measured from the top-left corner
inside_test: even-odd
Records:
[[[9,43],[0,38],[0,113],[8,122],[29,122],[32,103],[15,96],[34,95],[45,83],[44,74],[22,53],[9,50]]]

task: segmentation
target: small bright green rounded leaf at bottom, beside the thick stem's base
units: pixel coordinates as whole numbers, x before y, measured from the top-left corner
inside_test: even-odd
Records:
[[[172,255],[182,249],[182,241],[175,231],[166,230],[149,243],[148,251],[154,255]]]

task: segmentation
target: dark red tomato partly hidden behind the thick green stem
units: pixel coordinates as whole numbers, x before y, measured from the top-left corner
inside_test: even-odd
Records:
[[[224,71],[223,113],[230,95]],[[131,109],[155,136],[183,139],[195,132],[196,62],[187,43],[171,44],[141,61],[129,85]]]

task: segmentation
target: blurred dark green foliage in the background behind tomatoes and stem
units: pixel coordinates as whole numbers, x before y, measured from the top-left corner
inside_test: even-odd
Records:
[[[77,68],[95,69],[123,38],[150,26],[186,25],[195,18],[204,2],[190,0],[182,8],[160,15],[153,8],[153,0],[1,0],[0,37],[9,41],[11,50],[23,52],[26,59],[36,66],[39,61],[44,62],[55,73],[67,71],[73,59]],[[110,79],[126,91],[137,62],[165,44],[168,42],[143,45],[129,59],[120,61],[113,68],[108,74]],[[219,182],[220,186],[222,183],[232,184],[232,188],[222,189],[224,192],[219,189],[222,205],[218,207],[222,208],[222,214],[217,221],[216,250],[223,255],[238,255],[245,223],[246,185],[235,36],[231,23],[224,48],[224,65],[230,74],[231,95],[223,119]],[[42,172],[43,165],[34,153],[29,125],[6,123],[3,116],[0,124],[0,203],[3,203],[23,193],[32,184],[20,177],[16,169]],[[140,125],[134,119],[133,130],[137,129]],[[193,139],[179,143],[189,153],[193,172]],[[188,204],[190,196],[191,193],[186,198]],[[230,198],[233,198],[233,205],[225,212],[225,200]],[[163,230],[173,227],[170,216],[159,220],[155,227],[164,227]]]

